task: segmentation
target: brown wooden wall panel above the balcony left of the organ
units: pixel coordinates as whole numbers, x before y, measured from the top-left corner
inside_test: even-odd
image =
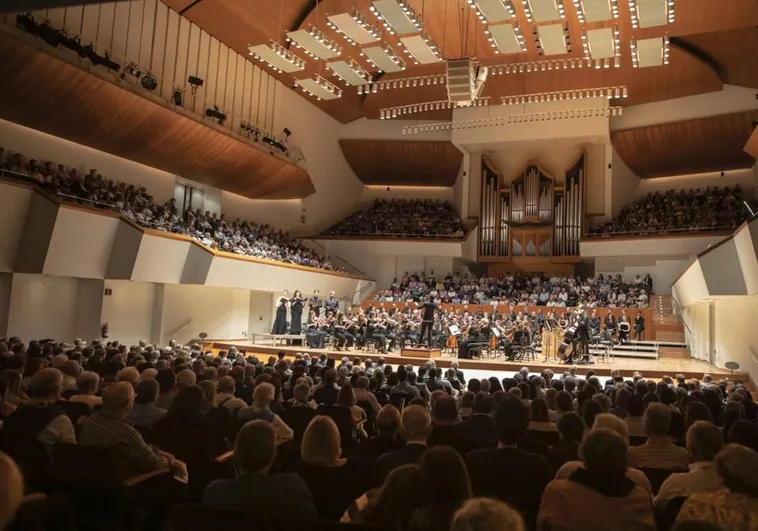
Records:
[[[340,147],[364,184],[453,186],[463,161],[451,142],[343,139]]]

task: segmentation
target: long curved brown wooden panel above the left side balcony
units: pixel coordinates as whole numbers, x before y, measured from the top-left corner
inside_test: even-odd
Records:
[[[315,191],[308,173],[0,33],[0,117],[254,199]],[[38,156],[44,156],[40,153]]]

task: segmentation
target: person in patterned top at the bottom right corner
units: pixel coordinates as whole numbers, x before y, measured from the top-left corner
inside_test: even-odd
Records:
[[[677,522],[695,520],[729,531],[758,529],[758,453],[740,444],[727,444],[715,459],[724,488],[693,494],[684,502]]]

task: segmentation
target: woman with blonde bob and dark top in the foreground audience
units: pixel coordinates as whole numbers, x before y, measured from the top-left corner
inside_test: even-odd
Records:
[[[299,474],[311,491],[319,518],[339,520],[363,494],[363,487],[359,471],[342,458],[340,433],[331,418],[313,418],[303,434],[300,455],[304,465]]]

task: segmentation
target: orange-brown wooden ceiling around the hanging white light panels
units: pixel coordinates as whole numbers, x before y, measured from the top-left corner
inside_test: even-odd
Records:
[[[328,15],[350,12],[356,6],[370,20],[370,0],[163,0],[173,9],[182,12],[192,22],[214,35],[238,53],[246,54],[248,44],[261,44],[274,39],[285,43],[285,31],[307,28],[314,24],[343,48],[342,59],[352,57],[375,73],[359,47],[348,44],[326,26]],[[422,14],[424,29],[442,50],[445,58],[473,57],[487,65],[504,65],[539,60],[537,48],[530,38],[534,24],[526,20],[521,2],[514,2],[519,25],[524,30],[527,52],[513,55],[495,55],[487,43],[484,26],[469,9],[466,0],[406,0],[417,13]],[[574,4],[564,0],[573,50],[555,59],[580,58],[583,50],[583,28],[611,27],[612,22],[581,25]],[[676,21],[667,26],[633,29],[630,23],[628,2],[618,2],[620,10],[622,66],[609,70],[583,69],[524,73],[508,76],[490,76],[484,96],[496,101],[500,96],[530,94],[554,90],[595,88],[609,85],[627,85],[629,98],[624,105],[666,100],[681,96],[719,90],[723,83],[735,83],[758,88],[758,69],[753,68],[746,54],[755,49],[758,25],[758,2],[755,0],[686,0],[676,3]],[[375,20],[372,20],[372,23]],[[550,23],[552,24],[552,22]],[[668,35],[672,38],[671,64],[664,67],[634,69],[629,55],[631,38],[644,39]],[[680,41],[677,41],[680,39]],[[383,35],[383,40],[400,51],[397,36]],[[682,42],[683,41],[683,42]],[[678,46],[680,42],[681,46]],[[752,43],[752,44],[751,44]],[[705,51],[715,59],[709,62],[692,47]],[[697,51],[695,50],[695,52]],[[323,74],[323,63],[307,60],[307,68],[297,78]],[[405,72],[383,76],[393,79],[426,74],[443,74],[443,64],[409,67]],[[726,72],[726,75],[722,75]],[[278,79],[291,86],[294,76],[279,74]],[[341,122],[366,116],[378,118],[379,110],[409,103],[423,103],[446,99],[444,86],[407,88],[359,96],[354,87],[345,87],[338,100],[317,102]],[[307,97],[307,96],[303,96]],[[414,118],[444,120],[450,111],[427,111]]]

